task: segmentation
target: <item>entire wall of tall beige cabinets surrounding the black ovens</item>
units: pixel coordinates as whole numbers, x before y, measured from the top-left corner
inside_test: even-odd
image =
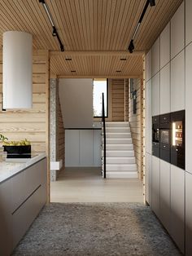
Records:
[[[192,255],[191,13],[192,1],[185,0],[146,55],[146,201],[186,255]],[[151,117],[180,110],[185,110],[185,170],[149,150]]]

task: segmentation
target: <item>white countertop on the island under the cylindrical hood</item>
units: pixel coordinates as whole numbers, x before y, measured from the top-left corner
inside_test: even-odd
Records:
[[[0,183],[10,179],[15,174],[32,166],[37,161],[46,157],[46,153],[41,153],[32,158],[7,158],[7,161],[0,162]]]

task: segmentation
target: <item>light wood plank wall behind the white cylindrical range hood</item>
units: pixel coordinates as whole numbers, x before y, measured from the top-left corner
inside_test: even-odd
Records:
[[[2,53],[0,54],[0,133],[9,140],[28,139],[33,152],[47,152],[47,51],[33,51],[33,108],[2,111]]]

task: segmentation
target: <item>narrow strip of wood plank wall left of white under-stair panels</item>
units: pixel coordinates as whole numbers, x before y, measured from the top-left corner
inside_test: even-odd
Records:
[[[56,151],[57,151],[57,161],[63,160],[63,168],[65,164],[65,130],[63,125],[63,116],[61,112],[60,100],[59,100],[59,90],[57,90],[57,117],[56,117],[56,124],[57,124],[57,136],[56,136]],[[62,168],[62,169],[63,169]]]

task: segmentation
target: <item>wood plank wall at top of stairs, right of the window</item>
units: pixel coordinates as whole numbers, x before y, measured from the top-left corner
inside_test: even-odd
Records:
[[[111,79],[111,121],[124,121],[124,79]]]

